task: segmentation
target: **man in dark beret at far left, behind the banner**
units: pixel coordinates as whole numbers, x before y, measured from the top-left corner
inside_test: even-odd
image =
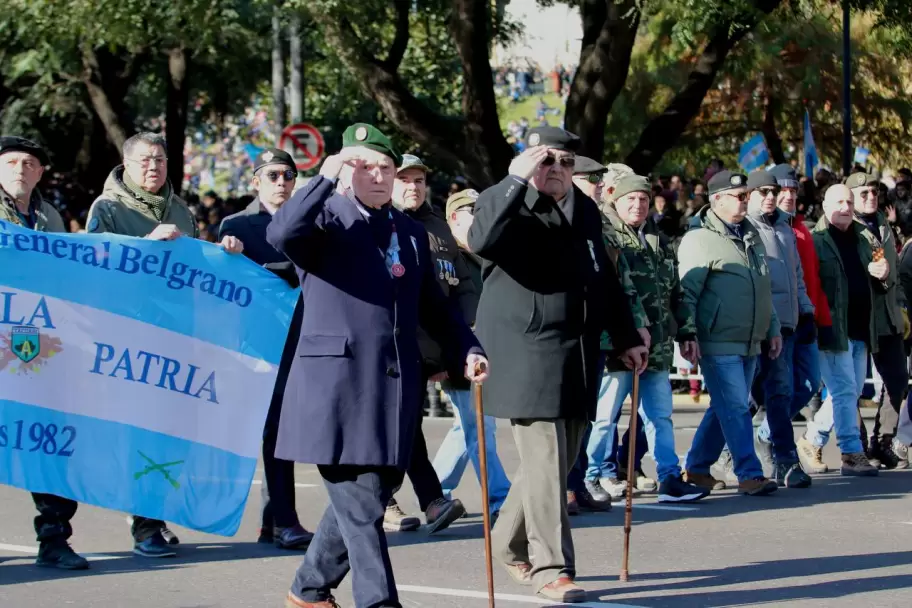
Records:
[[[48,164],[47,154],[35,142],[21,137],[0,137],[0,221],[40,232],[66,232],[60,214],[38,192],[38,182]],[[88,568],[89,562],[67,542],[73,535],[70,520],[76,515],[78,503],[38,492],[32,492],[32,500],[38,509],[36,564],[62,570]]]

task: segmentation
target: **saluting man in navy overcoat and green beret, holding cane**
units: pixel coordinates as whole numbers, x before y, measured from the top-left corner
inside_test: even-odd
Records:
[[[296,608],[335,606],[349,569],[356,606],[400,606],[383,518],[421,415],[419,323],[448,369],[487,376],[437,284],[427,232],[390,204],[392,142],[367,124],[342,141],[266,231],[297,267],[304,307],[275,455],[316,464],[330,500],[286,599]]]

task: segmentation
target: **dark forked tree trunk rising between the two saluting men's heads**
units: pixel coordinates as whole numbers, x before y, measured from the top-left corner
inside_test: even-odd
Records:
[[[396,9],[408,10],[409,5],[397,0]],[[465,119],[438,114],[415,98],[399,77],[399,49],[408,42],[407,20],[397,19],[396,39],[389,57],[380,60],[344,17],[334,18],[318,10],[313,10],[311,16],[323,26],[327,42],[360,82],[364,94],[380,106],[397,129],[447,168],[464,175],[474,187],[485,188],[506,175],[513,154],[497,118],[487,32],[484,25],[477,27],[487,23],[486,0],[454,0],[454,6],[459,18],[454,16],[449,22],[463,61]],[[406,27],[402,27],[403,22]]]

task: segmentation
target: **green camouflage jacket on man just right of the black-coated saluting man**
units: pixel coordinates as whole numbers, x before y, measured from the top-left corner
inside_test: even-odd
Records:
[[[674,251],[651,217],[643,225],[644,245],[637,231],[625,224],[613,208],[605,215],[617,234],[620,259],[630,269],[630,280],[649,319],[652,346],[647,369],[668,371],[674,360],[674,340],[693,340],[697,333],[693,316],[681,297]],[[616,358],[609,359],[607,365],[612,371],[627,369]]]

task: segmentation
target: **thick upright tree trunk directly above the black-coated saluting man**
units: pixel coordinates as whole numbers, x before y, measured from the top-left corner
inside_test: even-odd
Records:
[[[583,0],[580,13],[583,42],[565,124],[582,139],[580,153],[600,161],[608,112],[627,81],[640,11],[637,0]]]

